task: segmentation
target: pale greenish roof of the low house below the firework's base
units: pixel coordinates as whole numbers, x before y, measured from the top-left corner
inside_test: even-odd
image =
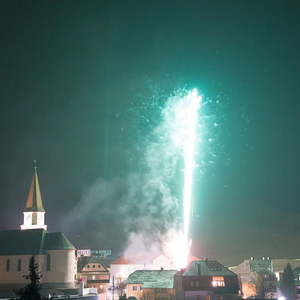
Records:
[[[176,270],[138,270],[128,276],[128,284],[142,284],[143,288],[168,288],[174,287]]]

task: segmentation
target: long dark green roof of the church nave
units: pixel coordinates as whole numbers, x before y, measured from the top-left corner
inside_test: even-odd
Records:
[[[62,232],[44,229],[0,231],[0,255],[36,255],[75,247]]]

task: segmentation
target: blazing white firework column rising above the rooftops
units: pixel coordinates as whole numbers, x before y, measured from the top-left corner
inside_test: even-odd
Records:
[[[177,149],[184,161],[184,184],[182,194],[183,229],[169,240],[175,267],[180,269],[188,263],[190,220],[192,207],[193,170],[196,166],[195,154],[198,141],[198,113],[202,97],[196,89],[182,97],[171,98],[164,111],[164,120],[170,135],[172,149]]]

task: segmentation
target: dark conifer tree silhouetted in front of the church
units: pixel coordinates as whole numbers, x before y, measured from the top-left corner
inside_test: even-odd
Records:
[[[30,258],[29,262],[29,268],[28,268],[29,274],[24,275],[23,277],[27,280],[30,280],[30,283],[27,284],[25,287],[21,288],[17,294],[19,295],[20,300],[41,300],[41,294],[40,294],[40,279],[41,274],[39,272],[38,264],[35,262],[34,256]]]

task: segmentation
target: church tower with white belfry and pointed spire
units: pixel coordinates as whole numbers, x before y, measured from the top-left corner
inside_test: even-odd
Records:
[[[37,175],[36,162],[34,161],[34,174],[30,185],[26,207],[23,211],[24,223],[21,225],[21,230],[26,229],[45,229],[45,210],[40,191],[39,179]]]

